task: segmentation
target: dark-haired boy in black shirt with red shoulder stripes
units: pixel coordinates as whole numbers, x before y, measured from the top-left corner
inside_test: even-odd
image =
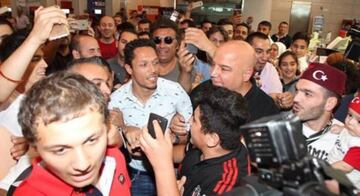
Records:
[[[234,91],[214,87],[199,96],[191,120],[195,148],[186,152],[179,169],[186,176],[183,195],[221,195],[250,174],[247,150],[239,142],[249,113],[244,98]]]

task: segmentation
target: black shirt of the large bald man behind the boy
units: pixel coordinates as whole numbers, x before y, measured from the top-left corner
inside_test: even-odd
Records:
[[[199,102],[200,97],[206,96],[213,87],[214,86],[212,85],[211,80],[207,80],[191,91],[190,99],[194,108],[198,105],[197,103]],[[246,100],[249,108],[250,121],[280,113],[280,110],[275,105],[274,100],[254,84],[249,92],[246,93],[244,99]]]

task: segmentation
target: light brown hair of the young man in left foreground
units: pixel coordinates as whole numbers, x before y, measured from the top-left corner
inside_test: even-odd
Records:
[[[62,71],[32,86],[21,102],[18,119],[24,137],[34,144],[39,123],[67,122],[89,111],[98,111],[106,122],[107,103],[99,88],[81,75]]]

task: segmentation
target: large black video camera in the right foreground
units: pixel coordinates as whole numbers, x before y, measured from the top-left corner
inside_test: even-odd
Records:
[[[236,194],[332,195],[324,182],[336,179],[342,195],[356,195],[345,174],[308,155],[301,121],[293,114],[264,117],[241,129],[258,175],[256,183],[245,178]]]

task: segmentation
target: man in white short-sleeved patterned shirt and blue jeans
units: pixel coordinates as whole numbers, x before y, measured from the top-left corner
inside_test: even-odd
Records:
[[[124,115],[126,127],[121,130],[132,158],[129,164],[132,195],[156,195],[152,169],[139,152],[141,128],[147,125],[150,113],[170,122],[178,112],[188,122],[192,106],[189,96],[178,83],[159,78],[161,64],[151,40],[133,40],[126,44],[124,53],[125,69],[131,80],[111,95],[109,107],[119,108]]]

